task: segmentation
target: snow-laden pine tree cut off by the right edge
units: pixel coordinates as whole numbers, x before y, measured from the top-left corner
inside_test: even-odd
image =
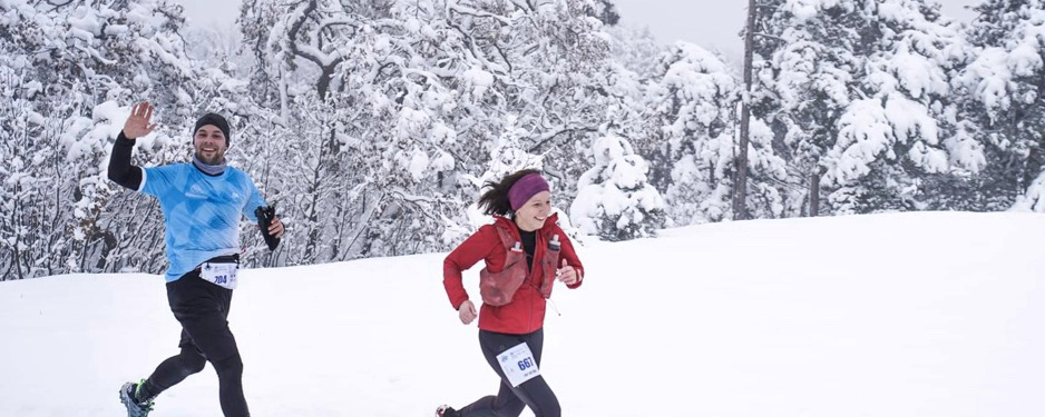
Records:
[[[988,0],[967,30],[976,48],[959,79],[959,119],[979,138],[986,166],[951,186],[965,196],[954,206],[971,210],[1045,211],[1045,2]]]

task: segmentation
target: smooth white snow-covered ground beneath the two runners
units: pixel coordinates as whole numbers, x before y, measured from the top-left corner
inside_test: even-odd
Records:
[[[1045,416],[1043,236],[1041,215],[935,212],[589,244],[584,286],[553,296],[543,374],[570,417]],[[427,417],[492,394],[442,258],[243,271],[252,415]],[[159,276],[0,282],[0,416],[119,416],[120,384],[178,331]],[[219,415],[209,366],[154,411]]]

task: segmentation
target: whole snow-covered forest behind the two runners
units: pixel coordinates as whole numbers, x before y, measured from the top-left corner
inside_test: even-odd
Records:
[[[160,122],[139,166],[187,161],[203,112],[229,119],[229,162],[287,225],[270,252],[244,221],[253,267],[448,250],[484,221],[482,183],[525,167],[575,236],[614,241],[1045,210],[1045,2],[748,11],[738,68],[622,27],[611,0],[246,0],[205,27],[166,0],[0,0],[0,280],[164,270],[157,202],[105,175],[139,100]]]

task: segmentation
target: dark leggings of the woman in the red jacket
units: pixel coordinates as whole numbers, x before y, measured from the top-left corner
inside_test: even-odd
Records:
[[[537,360],[537,367],[540,368],[540,353],[544,347],[544,329],[526,335],[506,335],[486,330],[479,330],[479,345],[482,347],[482,355],[486,361],[490,364],[497,376],[500,377],[500,389],[496,396],[486,396],[479,400],[461,408],[461,417],[518,417],[522,414],[524,407],[529,407],[535,417],[559,417],[559,400],[555,393],[545,383],[543,376],[537,376],[518,387],[512,388],[511,384],[505,377],[497,363],[497,355],[526,342],[534,359]]]

